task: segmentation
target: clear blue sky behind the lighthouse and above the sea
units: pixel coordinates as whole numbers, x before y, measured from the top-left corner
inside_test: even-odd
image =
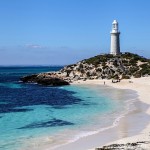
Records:
[[[110,51],[150,58],[150,0],[0,0],[0,65],[66,65]]]

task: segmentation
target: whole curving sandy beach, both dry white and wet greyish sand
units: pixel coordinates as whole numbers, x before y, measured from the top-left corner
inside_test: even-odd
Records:
[[[134,90],[138,94],[138,103],[135,102],[136,110],[121,118],[116,127],[80,138],[57,150],[150,149],[150,77],[126,79],[118,83],[112,83],[112,80],[87,80],[73,84],[100,84]]]

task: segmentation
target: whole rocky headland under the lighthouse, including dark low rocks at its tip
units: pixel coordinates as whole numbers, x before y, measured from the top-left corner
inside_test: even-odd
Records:
[[[34,74],[21,78],[23,82],[42,85],[69,85],[73,81],[93,79],[130,79],[150,75],[150,59],[137,54],[124,53],[117,56],[104,54],[65,66],[57,72]]]

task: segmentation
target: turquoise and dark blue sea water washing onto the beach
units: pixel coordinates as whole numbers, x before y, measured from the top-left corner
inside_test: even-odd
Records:
[[[104,85],[24,84],[62,67],[0,67],[0,150],[46,150],[117,125],[135,93]]]

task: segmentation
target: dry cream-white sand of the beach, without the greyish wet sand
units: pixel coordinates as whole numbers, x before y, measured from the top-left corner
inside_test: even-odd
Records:
[[[118,83],[112,83],[111,80],[88,80],[88,81],[78,81],[74,84],[105,84],[119,89],[132,89],[138,92],[139,100],[150,106],[150,77],[143,78],[133,78],[130,80],[122,80]],[[131,83],[131,82],[132,83]],[[145,113],[150,115],[150,107],[145,110]],[[138,135],[132,137],[122,138],[117,141],[113,141],[110,144],[126,144],[138,141],[150,141],[150,121],[146,128],[144,128]],[[96,146],[97,147],[97,146]],[[101,147],[101,146],[100,146]],[[141,148],[150,149],[150,143],[142,144]],[[94,148],[93,148],[94,149]]]

